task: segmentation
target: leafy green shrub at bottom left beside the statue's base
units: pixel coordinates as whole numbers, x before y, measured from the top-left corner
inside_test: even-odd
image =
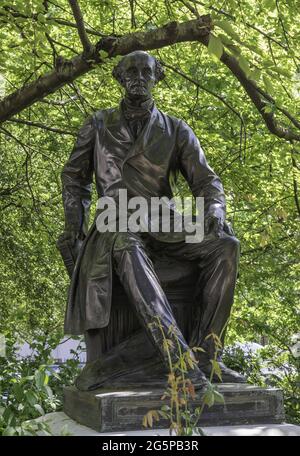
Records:
[[[43,420],[35,420],[62,407],[62,390],[78,374],[79,359],[74,357],[53,371],[51,350],[57,337],[35,335],[32,356],[17,357],[14,337],[6,337],[6,357],[0,358],[0,435],[51,434]]]

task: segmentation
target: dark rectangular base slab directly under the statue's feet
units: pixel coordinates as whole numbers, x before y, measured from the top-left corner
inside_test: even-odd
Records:
[[[248,384],[227,383],[218,386],[225,404],[205,406],[199,426],[236,424],[282,423],[284,421],[283,394],[279,389],[260,388]],[[78,423],[98,432],[130,431],[144,429],[143,417],[149,410],[159,410],[163,389],[150,387],[101,388],[94,391],[78,391],[75,387],[64,389],[64,412]],[[199,407],[201,391],[190,402]],[[166,420],[154,423],[154,427],[168,427]]]

